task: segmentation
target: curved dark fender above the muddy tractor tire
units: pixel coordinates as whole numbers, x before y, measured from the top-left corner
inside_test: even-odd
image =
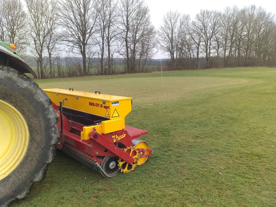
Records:
[[[20,57],[0,45],[0,63],[14,68],[19,73],[30,73],[37,78],[34,70]]]

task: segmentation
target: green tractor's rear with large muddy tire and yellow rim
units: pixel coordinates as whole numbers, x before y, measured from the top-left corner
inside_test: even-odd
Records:
[[[14,44],[0,42],[0,207],[44,179],[59,136],[51,100],[24,73],[37,78]]]

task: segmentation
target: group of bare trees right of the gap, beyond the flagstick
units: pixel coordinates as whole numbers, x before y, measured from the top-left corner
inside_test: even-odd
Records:
[[[276,66],[275,15],[251,5],[189,15],[169,11],[158,31],[171,69]]]

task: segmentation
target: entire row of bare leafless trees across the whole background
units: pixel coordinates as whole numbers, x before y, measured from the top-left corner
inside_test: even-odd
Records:
[[[156,29],[143,0],[0,1],[0,41],[35,58],[39,78],[145,72],[158,49],[167,70],[275,66],[275,16],[251,5],[187,14],[168,11]],[[81,56],[81,60],[74,58]],[[61,58],[66,57],[66,64]],[[97,66],[93,64],[99,60]]]

